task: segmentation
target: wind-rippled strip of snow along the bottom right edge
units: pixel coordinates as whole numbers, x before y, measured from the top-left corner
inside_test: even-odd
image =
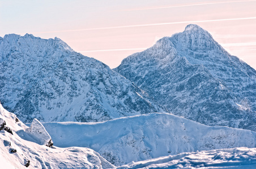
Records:
[[[256,168],[255,148],[234,148],[210,150],[197,153],[181,153],[150,159],[147,161],[132,162],[117,167],[124,168],[228,168],[228,169],[254,169]]]

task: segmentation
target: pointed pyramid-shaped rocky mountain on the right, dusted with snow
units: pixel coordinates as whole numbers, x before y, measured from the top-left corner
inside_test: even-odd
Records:
[[[160,39],[114,70],[173,114],[256,131],[256,71],[198,25]]]

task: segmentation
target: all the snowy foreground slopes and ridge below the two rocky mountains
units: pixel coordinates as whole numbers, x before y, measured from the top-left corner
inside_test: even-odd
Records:
[[[256,148],[219,149],[255,147],[255,132],[204,126],[170,114],[44,126],[52,137],[36,119],[27,127],[0,104],[0,168],[116,168],[94,150],[72,145],[98,149],[116,164],[131,162],[118,169],[256,168]],[[67,148],[46,146],[52,138]],[[189,152],[197,149],[219,150]],[[165,154],[177,155],[160,157]]]

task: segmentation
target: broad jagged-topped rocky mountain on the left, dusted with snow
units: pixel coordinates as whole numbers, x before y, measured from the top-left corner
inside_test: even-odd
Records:
[[[59,38],[0,38],[0,100],[23,122],[98,122],[165,112],[147,94]]]

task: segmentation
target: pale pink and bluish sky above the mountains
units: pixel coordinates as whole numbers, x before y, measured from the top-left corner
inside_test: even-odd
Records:
[[[256,69],[256,0],[0,0],[0,37],[58,37],[73,50],[116,68],[158,39],[197,24]]]

